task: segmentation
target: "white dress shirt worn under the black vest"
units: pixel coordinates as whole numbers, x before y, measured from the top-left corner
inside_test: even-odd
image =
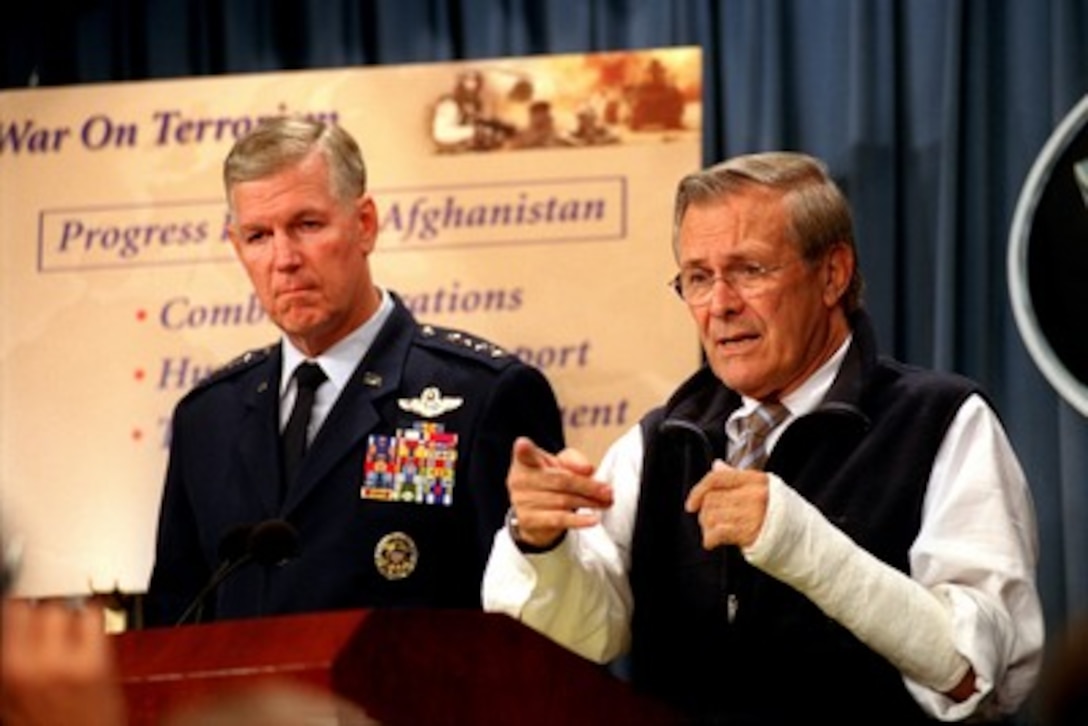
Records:
[[[783,398],[790,418],[824,398],[849,347]],[[727,421],[754,408],[745,401]],[[732,445],[732,443],[731,443]],[[631,427],[606,452],[596,478],[611,484],[601,524],[571,530],[555,550],[524,555],[506,529],[495,538],[483,581],[484,608],[507,613],[591,660],[627,652],[632,595],[627,574],[639,500],[642,432]],[[910,576],[950,603],[954,640],[972,664],[977,692],[962,703],[904,678],[931,716],[959,719],[1011,713],[1038,676],[1042,610],[1035,582],[1038,541],[1027,481],[996,414],[979,397],[964,402],[930,471],[922,528],[910,550]]]

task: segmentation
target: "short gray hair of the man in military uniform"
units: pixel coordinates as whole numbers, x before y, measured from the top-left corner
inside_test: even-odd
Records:
[[[264,119],[239,138],[223,162],[227,201],[240,182],[294,167],[314,151],[324,155],[333,194],[350,201],[367,192],[367,164],[359,144],[338,125],[302,116]]]

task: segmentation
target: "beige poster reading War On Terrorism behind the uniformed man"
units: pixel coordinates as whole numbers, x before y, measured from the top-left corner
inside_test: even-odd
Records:
[[[0,94],[0,506],[16,592],[146,587],[178,398],[277,340],[221,164],[263,116],[358,138],[376,282],[540,367],[594,459],[698,364],[667,281],[696,48]],[[274,455],[274,453],[270,453]]]

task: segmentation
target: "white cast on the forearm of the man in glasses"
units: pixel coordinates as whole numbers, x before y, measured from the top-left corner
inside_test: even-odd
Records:
[[[952,616],[934,592],[857,546],[781,479],[745,558],[798,590],[906,677],[949,691],[968,662],[953,643]]]

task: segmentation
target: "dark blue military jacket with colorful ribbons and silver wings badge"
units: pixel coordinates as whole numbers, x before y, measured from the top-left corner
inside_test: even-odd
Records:
[[[232,531],[270,519],[297,531],[298,555],[238,567],[208,596],[203,620],[480,606],[484,563],[508,507],[512,442],[524,434],[561,448],[559,409],[539,370],[480,339],[421,325],[394,300],[282,504],[279,345],[238,358],[178,403],[149,625],[171,625],[186,611],[222,564]],[[446,434],[456,434],[453,446]],[[416,482],[424,467],[453,466],[453,489],[443,471],[436,489],[403,501],[410,487],[399,496],[391,488],[404,484],[397,466]]]

